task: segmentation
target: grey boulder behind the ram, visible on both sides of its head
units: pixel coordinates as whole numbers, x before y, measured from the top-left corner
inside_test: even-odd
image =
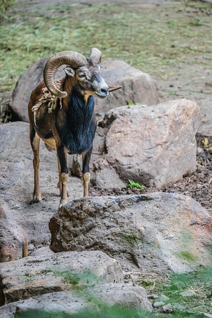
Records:
[[[18,80],[12,93],[10,106],[18,120],[29,122],[28,102],[32,90],[43,81],[43,69],[48,58],[42,58],[31,65]],[[60,67],[55,79],[64,77]],[[106,99],[96,97],[96,115],[103,116],[113,107],[126,105],[128,100],[144,104],[158,102],[157,84],[148,74],[137,70],[123,61],[104,61],[102,74],[109,84],[121,85],[122,89],[109,93]]]

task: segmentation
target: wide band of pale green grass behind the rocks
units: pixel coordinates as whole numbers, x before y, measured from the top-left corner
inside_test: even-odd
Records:
[[[121,59],[150,74],[164,76],[166,69],[178,62],[193,65],[198,54],[207,57],[211,53],[212,23],[210,16],[201,12],[198,18],[189,17],[185,13],[189,5],[197,3],[179,1],[153,11],[66,4],[26,13],[20,2],[0,24],[0,90],[12,89],[41,57],[62,50],[88,55],[92,46],[102,50],[104,60]],[[23,11],[15,11],[21,7]],[[204,62],[210,64],[211,60],[203,58]]]

